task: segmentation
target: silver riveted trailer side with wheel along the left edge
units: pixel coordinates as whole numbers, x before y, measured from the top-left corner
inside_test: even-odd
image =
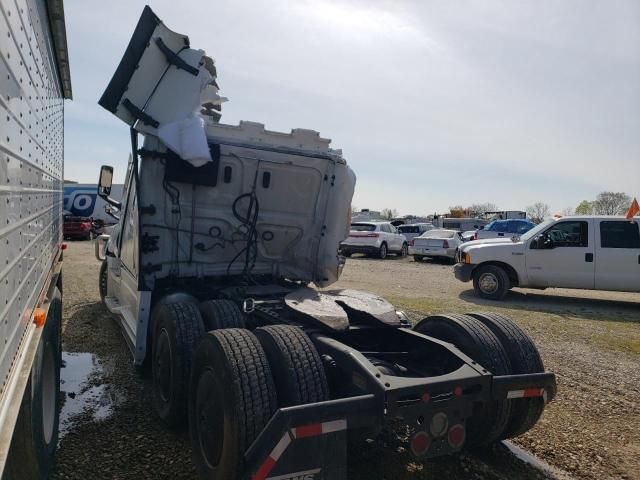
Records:
[[[0,476],[47,478],[58,442],[62,0],[0,1]]]

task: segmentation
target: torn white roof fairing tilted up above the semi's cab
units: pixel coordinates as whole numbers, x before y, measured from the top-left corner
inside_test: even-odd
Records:
[[[219,120],[225,100],[213,59],[190,48],[186,35],[169,30],[147,6],[98,103],[197,167],[211,161],[201,115]]]

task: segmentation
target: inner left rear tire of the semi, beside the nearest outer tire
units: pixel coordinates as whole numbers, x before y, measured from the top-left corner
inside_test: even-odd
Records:
[[[279,407],[329,399],[324,365],[306,333],[291,325],[261,327],[254,333],[269,360]]]

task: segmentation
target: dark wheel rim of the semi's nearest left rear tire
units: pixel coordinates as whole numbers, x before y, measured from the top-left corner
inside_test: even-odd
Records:
[[[205,371],[196,389],[196,435],[200,456],[210,469],[220,463],[224,446],[224,406],[215,390],[212,370]]]

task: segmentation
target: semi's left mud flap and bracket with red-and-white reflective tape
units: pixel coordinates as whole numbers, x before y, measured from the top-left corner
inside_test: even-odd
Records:
[[[374,395],[282,408],[245,454],[245,480],[346,480],[347,430],[382,421]]]

